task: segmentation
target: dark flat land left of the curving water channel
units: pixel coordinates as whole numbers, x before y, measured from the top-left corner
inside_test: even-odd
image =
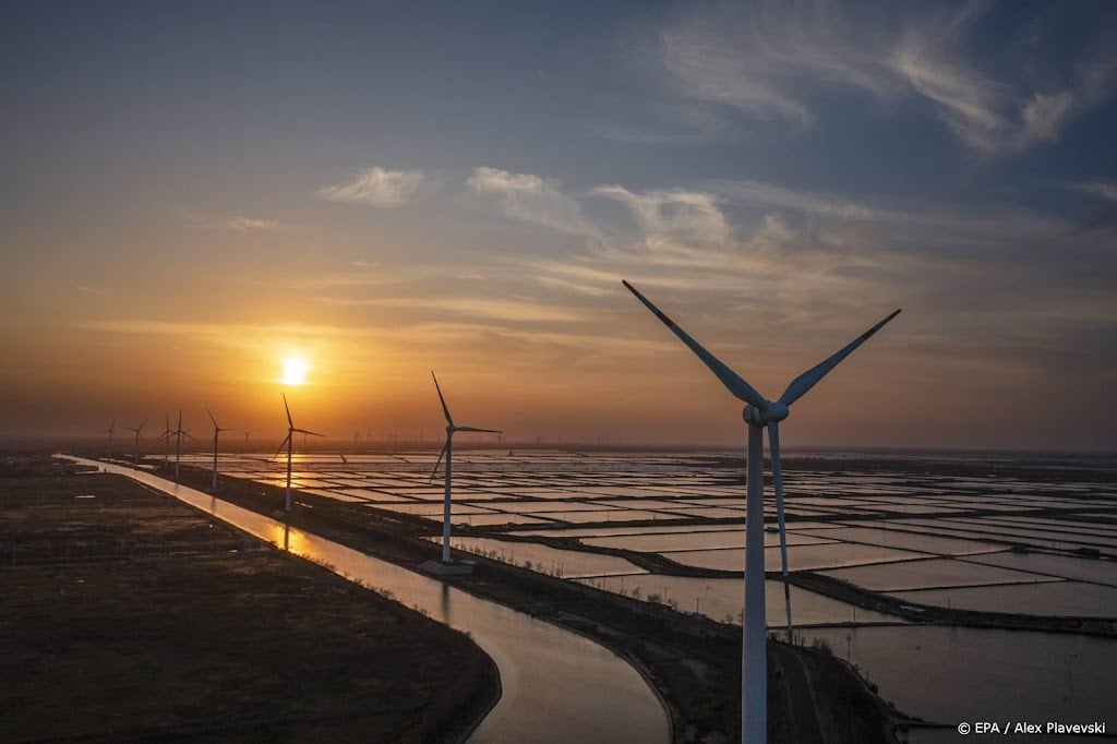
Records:
[[[496,694],[465,636],[326,569],[118,476],[10,474],[6,741],[438,741]]]

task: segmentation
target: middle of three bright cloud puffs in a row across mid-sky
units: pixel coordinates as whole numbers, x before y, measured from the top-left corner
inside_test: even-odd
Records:
[[[582,217],[577,202],[562,192],[558,181],[531,173],[475,168],[466,185],[477,193],[493,195],[507,218],[572,235],[596,233]]]

